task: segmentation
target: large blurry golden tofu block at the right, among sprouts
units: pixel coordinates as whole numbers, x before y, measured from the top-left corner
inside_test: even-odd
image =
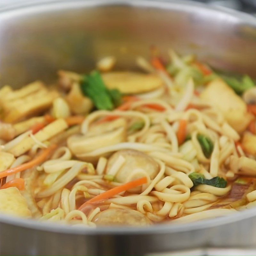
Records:
[[[252,115],[245,102],[221,79],[213,80],[201,93],[200,98],[218,108],[228,123],[239,133],[243,132]]]

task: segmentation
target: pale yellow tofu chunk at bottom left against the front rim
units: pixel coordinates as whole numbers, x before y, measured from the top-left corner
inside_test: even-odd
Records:
[[[26,199],[15,187],[0,189],[0,212],[26,218],[32,216]]]

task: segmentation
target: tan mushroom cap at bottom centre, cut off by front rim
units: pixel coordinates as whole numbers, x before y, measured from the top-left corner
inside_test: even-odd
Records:
[[[149,226],[152,222],[141,212],[131,209],[108,209],[98,213],[94,219],[98,226]]]

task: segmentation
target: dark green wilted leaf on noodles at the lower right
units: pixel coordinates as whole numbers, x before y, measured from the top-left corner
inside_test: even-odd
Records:
[[[220,177],[214,177],[210,180],[207,180],[204,178],[203,174],[192,172],[188,175],[190,180],[193,181],[194,186],[197,186],[199,184],[205,184],[210,185],[216,188],[226,188],[227,181]]]

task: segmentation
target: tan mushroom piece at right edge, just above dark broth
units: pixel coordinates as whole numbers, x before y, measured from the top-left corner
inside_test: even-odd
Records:
[[[246,156],[232,156],[230,158],[230,169],[241,175],[256,175],[256,160]]]

